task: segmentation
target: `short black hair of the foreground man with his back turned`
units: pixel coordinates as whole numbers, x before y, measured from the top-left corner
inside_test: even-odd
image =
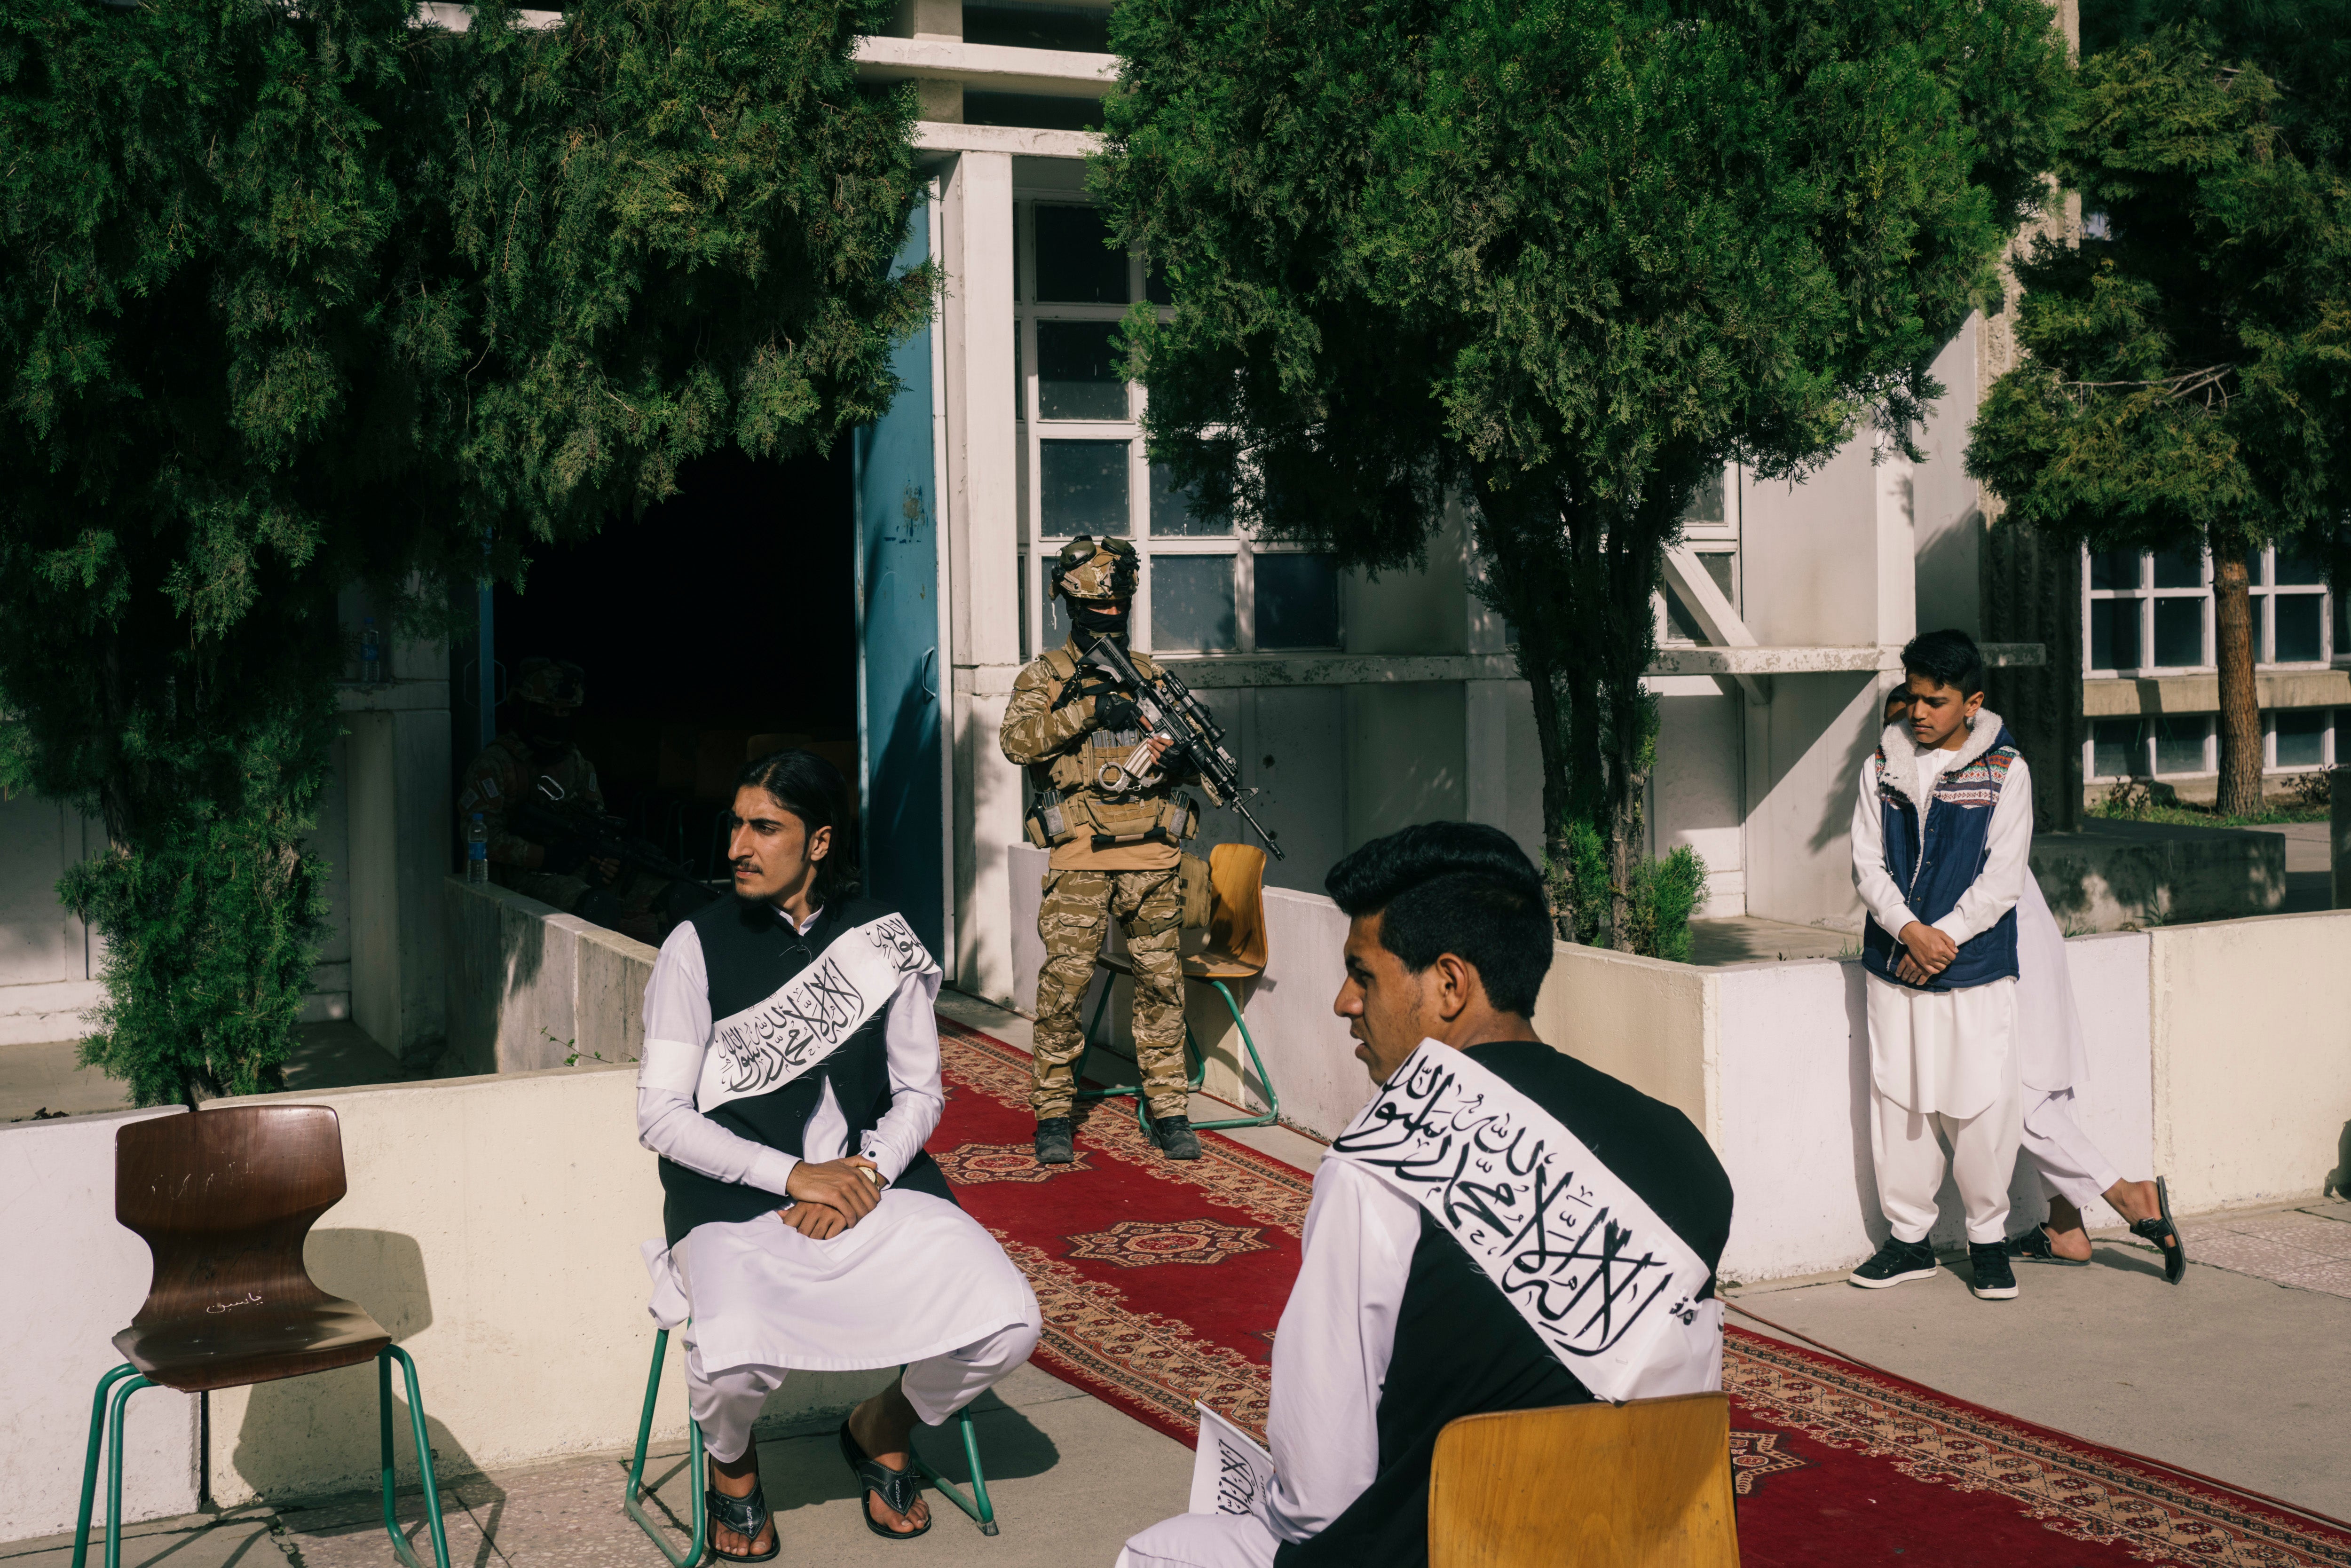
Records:
[[[1476,969],[1486,1001],[1533,1016],[1552,914],[1542,875],[1500,827],[1415,823],[1333,865],[1324,891],[1349,919],[1385,914],[1380,945],[1415,976],[1451,952]]]

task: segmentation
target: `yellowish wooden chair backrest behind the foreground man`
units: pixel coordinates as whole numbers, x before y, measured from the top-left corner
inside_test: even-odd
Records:
[[[1429,1568],[1737,1568],[1730,1401],[1465,1415],[1429,1465]]]

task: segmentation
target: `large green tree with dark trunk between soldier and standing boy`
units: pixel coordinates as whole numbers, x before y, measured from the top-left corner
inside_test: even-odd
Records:
[[[1665,548],[1726,461],[1900,430],[2038,200],[2043,0],[1126,0],[1096,188],[1166,268],[1154,458],[1349,567],[1469,501],[1563,936],[1632,917]],[[1578,919],[1568,832],[1610,846]]]

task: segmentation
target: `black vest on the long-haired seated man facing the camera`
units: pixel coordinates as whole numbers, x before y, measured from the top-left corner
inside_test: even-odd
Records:
[[[816,924],[802,936],[766,900],[719,898],[703,905],[686,917],[686,924],[694,926],[694,936],[703,943],[703,973],[710,978],[710,1018],[731,1018],[748,1006],[766,1001],[792,976],[813,964],[844,931],[893,912],[891,905],[872,898],[835,898],[818,910]],[[797,1157],[809,1133],[809,1117],[825,1103],[825,1084],[832,1084],[832,1098],[849,1121],[846,1152],[856,1154],[858,1138],[889,1114],[886,1025],[889,1006],[884,1004],[832,1056],[783,1088],[729,1100],[705,1114],[729,1133]],[[947,1178],[926,1152],[915,1154],[896,1185],[929,1192],[950,1204],[955,1201]],[[792,1201],[781,1192],[722,1182],[668,1159],[661,1161],[661,1187],[665,1194],[661,1227],[668,1232],[670,1246],[677,1246],[696,1225],[755,1220]]]

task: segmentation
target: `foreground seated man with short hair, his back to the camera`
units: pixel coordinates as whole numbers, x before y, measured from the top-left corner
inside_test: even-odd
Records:
[[[1446,1422],[1723,1382],[1730,1178],[1679,1110],[1535,1037],[1552,919],[1526,853],[1422,823],[1326,886],[1378,1093],[1314,1173],[1274,1476],[1246,1514],[1131,1537],[1126,1568],[1420,1566]]]

